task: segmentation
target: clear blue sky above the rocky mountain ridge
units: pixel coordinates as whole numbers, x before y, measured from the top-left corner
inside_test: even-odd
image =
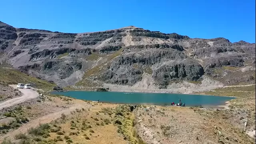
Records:
[[[191,38],[255,43],[255,0],[1,0],[17,28],[94,32],[136,26]]]

